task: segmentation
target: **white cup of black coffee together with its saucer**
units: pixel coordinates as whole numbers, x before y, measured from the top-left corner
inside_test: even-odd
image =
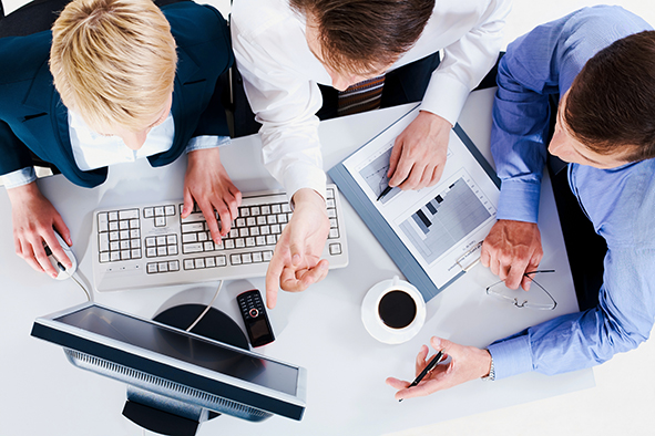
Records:
[[[398,276],[375,284],[364,298],[361,321],[371,336],[388,344],[412,339],[426,322],[426,301]]]

